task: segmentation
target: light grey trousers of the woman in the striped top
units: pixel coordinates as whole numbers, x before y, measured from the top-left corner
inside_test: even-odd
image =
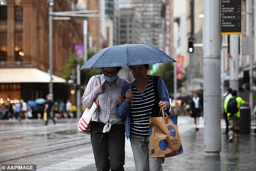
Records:
[[[163,171],[163,157],[150,157],[149,137],[130,134],[136,171]]]

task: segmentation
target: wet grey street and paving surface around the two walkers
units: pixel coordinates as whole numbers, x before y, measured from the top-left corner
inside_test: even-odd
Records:
[[[58,119],[48,126],[43,120],[0,120],[0,165],[37,165],[37,171],[96,171],[90,136],[77,131],[77,119]],[[204,121],[196,132],[193,118],[178,117],[184,153],[165,159],[165,171],[255,171],[256,136],[241,134],[240,142],[229,143],[222,119],[222,150],[219,156],[205,155]],[[255,119],[252,128],[255,128]],[[129,140],[126,140],[126,171],[134,171]]]

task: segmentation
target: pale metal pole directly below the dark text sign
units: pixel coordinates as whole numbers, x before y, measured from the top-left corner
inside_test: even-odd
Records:
[[[238,56],[238,35],[230,35],[230,58],[229,58],[229,87],[233,90],[239,91],[239,56]]]

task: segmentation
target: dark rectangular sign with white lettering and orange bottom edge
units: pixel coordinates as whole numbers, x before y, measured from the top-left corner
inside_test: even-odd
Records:
[[[241,0],[221,0],[221,34],[241,35]]]

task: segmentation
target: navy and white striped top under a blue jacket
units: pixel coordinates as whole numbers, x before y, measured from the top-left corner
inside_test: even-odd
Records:
[[[151,117],[155,103],[152,79],[149,79],[149,84],[145,92],[140,93],[134,85],[132,94],[132,105],[130,106],[130,133],[138,136],[149,136],[149,117]]]

